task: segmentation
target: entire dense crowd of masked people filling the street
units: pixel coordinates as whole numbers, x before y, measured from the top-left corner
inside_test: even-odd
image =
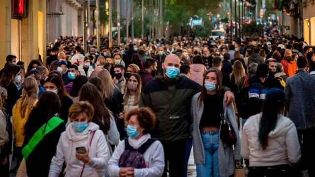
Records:
[[[27,67],[6,57],[1,177],[187,177],[192,146],[197,177],[315,176],[315,47],[303,39],[270,28],[107,42],[91,36],[85,53],[61,36]]]

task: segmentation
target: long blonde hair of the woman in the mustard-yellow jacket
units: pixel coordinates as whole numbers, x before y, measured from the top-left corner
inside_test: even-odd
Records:
[[[21,117],[24,118],[26,110],[31,110],[34,102],[37,100],[38,96],[38,84],[37,81],[28,77],[24,80],[23,89],[22,89],[22,97],[17,101],[17,105],[20,105],[18,109],[20,109]]]

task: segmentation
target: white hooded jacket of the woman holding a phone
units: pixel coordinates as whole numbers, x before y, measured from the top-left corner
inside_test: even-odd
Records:
[[[90,147],[93,131],[95,131],[95,135]],[[71,123],[61,134],[56,155],[50,165],[49,177],[59,177],[63,162],[66,164],[65,177],[80,176],[84,163],[75,157],[77,147],[89,149],[91,158],[91,161],[85,166],[82,177],[104,177],[110,153],[103,132],[93,122],[89,122],[83,132],[75,132]]]

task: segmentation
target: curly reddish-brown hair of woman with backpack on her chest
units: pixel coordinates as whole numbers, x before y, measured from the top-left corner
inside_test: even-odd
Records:
[[[129,121],[131,116],[137,116],[143,134],[148,134],[156,125],[156,115],[150,108],[135,108],[125,114],[125,120]]]

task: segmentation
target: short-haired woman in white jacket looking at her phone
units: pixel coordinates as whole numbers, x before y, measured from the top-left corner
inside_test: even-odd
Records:
[[[56,155],[51,160],[48,177],[104,177],[110,158],[103,131],[92,122],[94,107],[87,101],[69,109],[71,124],[61,134]]]

